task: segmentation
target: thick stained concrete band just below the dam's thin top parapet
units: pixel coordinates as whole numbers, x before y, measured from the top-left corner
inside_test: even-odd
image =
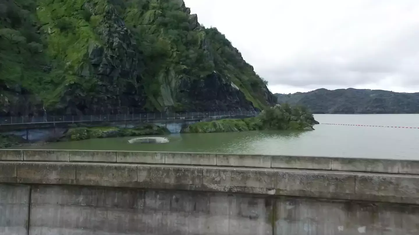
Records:
[[[419,204],[419,176],[85,162],[0,162],[0,183],[114,186]]]

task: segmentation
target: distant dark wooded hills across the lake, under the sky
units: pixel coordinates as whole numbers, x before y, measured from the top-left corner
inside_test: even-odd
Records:
[[[304,105],[313,113],[419,113],[419,92],[322,88],[305,93],[275,95],[278,97],[278,103]]]

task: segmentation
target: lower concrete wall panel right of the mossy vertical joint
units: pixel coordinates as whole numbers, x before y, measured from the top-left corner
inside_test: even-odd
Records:
[[[275,235],[417,235],[417,205],[278,197]]]

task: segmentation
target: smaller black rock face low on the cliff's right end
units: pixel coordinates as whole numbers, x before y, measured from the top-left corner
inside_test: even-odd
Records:
[[[189,82],[181,81],[180,101],[189,111],[230,111],[254,110],[252,103],[246,100],[243,92],[234,84],[225,82],[221,74],[213,72],[206,78]]]

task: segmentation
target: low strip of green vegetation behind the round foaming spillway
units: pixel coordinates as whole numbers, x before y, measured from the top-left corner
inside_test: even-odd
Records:
[[[139,135],[164,135],[169,131],[158,125],[147,124],[134,128],[118,127],[79,127],[70,128],[61,140],[87,140],[92,138],[110,138]]]

